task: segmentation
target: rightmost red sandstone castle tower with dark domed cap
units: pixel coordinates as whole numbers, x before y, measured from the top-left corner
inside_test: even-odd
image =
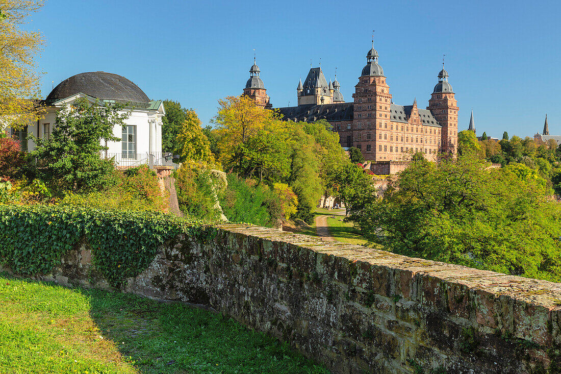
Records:
[[[454,98],[452,85],[448,83],[448,72],[442,70],[438,73],[438,83],[434,86],[433,93],[427,107],[440,126],[440,152],[456,153],[458,145],[458,102]]]

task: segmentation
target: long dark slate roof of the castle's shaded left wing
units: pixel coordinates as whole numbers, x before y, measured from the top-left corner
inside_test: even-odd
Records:
[[[297,107],[278,108],[286,121],[306,121],[315,122],[318,120],[327,121],[352,121],[353,103],[335,104],[306,104]]]

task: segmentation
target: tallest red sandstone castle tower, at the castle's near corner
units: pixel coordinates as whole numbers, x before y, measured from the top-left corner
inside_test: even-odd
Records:
[[[386,84],[384,70],[378,65],[378,51],[372,48],[366,54],[366,66],[355,85],[353,104],[353,146],[360,148],[364,158],[371,161],[384,159],[384,156],[393,156],[390,151],[390,139],[392,136],[392,125],[390,124],[390,104],[392,95]],[[373,139],[372,139],[373,137]],[[362,142],[372,139],[367,143]],[[374,142],[373,142],[374,140]]]

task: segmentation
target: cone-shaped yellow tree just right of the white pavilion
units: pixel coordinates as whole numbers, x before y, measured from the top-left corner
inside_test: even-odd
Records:
[[[188,110],[185,113],[185,120],[181,124],[175,143],[177,148],[173,152],[180,155],[180,162],[190,160],[207,165],[214,164],[214,156],[210,152],[210,142],[203,134],[201,121],[195,111]]]

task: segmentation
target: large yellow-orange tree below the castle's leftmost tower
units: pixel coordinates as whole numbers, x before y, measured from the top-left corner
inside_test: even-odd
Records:
[[[274,183],[289,175],[286,122],[245,95],[219,100],[218,148],[224,170]]]

